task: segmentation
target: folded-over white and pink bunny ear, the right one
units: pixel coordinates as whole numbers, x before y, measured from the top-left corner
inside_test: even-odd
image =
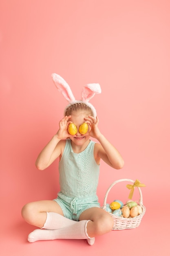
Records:
[[[88,83],[82,90],[82,101],[88,102],[96,93],[101,93],[99,83]]]

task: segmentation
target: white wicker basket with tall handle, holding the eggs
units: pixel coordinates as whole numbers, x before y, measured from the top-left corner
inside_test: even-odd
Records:
[[[117,180],[117,181],[113,182],[109,186],[108,190],[106,191],[106,195],[104,197],[104,204],[102,206],[102,209],[104,209],[106,211],[106,200],[107,200],[108,193],[109,193],[110,189],[115,184],[117,184],[118,182],[124,182],[124,181],[132,182],[133,184],[135,183],[135,181],[129,180],[129,179],[121,179],[121,180]],[[139,224],[141,222],[141,219],[142,219],[142,217],[145,214],[146,208],[143,205],[141,189],[140,189],[140,187],[137,187],[137,188],[139,190],[139,195],[140,195],[139,205],[142,208],[142,213],[140,215],[136,216],[136,217],[133,217],[133,218],[130,218],[130,217],[129,218],[119,217],[119,216],[114,215],[113,213],[109,213],[113,217],[113,219],[114,219],[113,230],[134,229],[134,228],[139,226]]]

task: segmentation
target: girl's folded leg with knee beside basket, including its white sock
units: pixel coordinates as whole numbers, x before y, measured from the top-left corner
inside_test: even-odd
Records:
[[[88,220],[87,220],[88,219]],[[73,220],[71,220],[73,221]],[[93,245],[93,236],[108,233],[113,228],[113,218],[101,208],[93,207],[84,211],[79,221],[73,221],[73,225],[55,230],[36,229],[29,234],[29,242],[37,240],[54,239],[87,239],[89,245]]]

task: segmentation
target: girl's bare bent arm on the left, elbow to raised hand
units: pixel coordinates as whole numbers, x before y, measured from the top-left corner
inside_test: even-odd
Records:
[[[35,162],[35,166],[39,170],[44,170],[45,168],[50,166],[57,157],[62,155],[62,151],[66,143],[65,139],[71,136],[68,134],[67,131],[69,124],[69,122],[67,121],[70,117],[71,116],[65,116],[59,122],[59,130],[38,155],[38,158]]]

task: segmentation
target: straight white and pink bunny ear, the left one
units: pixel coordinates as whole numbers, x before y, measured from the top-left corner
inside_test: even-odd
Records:
[[[69,103],[75,101],[75,97],[74,97],[68,83],[66,83],[66,81],[58,74],[53,73],[51,76],[52,76],[55,86],[57,87],[59,92],[61,92],[63,94],[64,98]]]

